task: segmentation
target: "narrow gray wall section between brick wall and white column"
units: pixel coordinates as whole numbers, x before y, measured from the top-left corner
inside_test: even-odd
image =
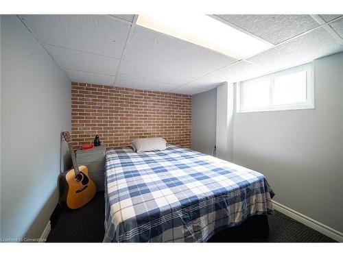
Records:
[[[215,147],[217,90],[192,95],[191,148],[212,154]]]

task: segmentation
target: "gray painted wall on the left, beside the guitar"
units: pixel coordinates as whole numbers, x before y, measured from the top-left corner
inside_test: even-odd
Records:
[[[56,206],[71,82],[16,16],[1,16],[1,236],[40,236]]]

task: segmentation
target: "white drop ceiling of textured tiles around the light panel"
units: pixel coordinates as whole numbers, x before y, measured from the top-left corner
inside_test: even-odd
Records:
[[[134,14],[19,18],[73,82],[187,95],[343,51],[341,14],[210,16],[272,47],[237,60],[140,27]]]

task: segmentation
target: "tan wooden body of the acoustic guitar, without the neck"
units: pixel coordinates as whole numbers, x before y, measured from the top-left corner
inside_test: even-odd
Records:
[[[94,197],[96,186],[88,176],[86,166],[78,167],[80,174],[75,176],[74,169],[61,174],[63,199],[71,209],[78,209]]]

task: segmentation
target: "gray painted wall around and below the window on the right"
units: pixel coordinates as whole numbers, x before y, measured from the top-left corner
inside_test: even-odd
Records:
[[[235,114],[233,162],[275,201],[343,232],[343,53],[314,62],[316,109]]]

